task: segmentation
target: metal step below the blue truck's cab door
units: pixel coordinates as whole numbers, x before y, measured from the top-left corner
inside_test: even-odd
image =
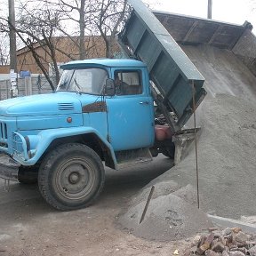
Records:
[[[116,151],[117,169],[130,167],[133,164],[147,164],[152,160],[153,157],[148,148]]]

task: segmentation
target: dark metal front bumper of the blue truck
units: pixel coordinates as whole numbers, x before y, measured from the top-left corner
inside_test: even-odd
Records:
[[[11,156],[0,155],[0,178],[17,181],[20,165]]]

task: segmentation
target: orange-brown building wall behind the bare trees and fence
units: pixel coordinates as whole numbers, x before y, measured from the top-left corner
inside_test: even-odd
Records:
[[[70,60],[79,60],[79,37],[58,36],[52,37],[54,45],[55,59],[57,64],[62,64]],[[49,48],[42,44],[33,44],[36,54],[40,56],[40,62],[45,70],[51,74],[52,59]],[[84,38],[84,56],[85,59],[106,57],[106,44],[102,36],[85,36]],[[115,54],[120,52],[118,44],[115,42],[113,51]],[[23,47],[17,51],[17,69],[20,71],[29,71],[31,74],[42,74],[41,68],[36,64],[32,52],[28,47]],[[10,67],[0,66],[0,74],[9,74]]]

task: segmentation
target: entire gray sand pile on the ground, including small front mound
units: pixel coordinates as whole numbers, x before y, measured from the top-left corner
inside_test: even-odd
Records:
[[[204,212],[239,219],[256,212],[256,105],[218,94],[205,99],[200,111],[198,140],[200,208]],[[158,241],[191,236],[210,224],[196,208],[195,149],[132,199],[119,219],[134,235]],[[145,220],[140,216],[156,186]],[[189,185],[190,184],[190,185]]]

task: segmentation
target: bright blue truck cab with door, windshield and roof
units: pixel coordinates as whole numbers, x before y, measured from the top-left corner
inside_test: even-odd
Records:
[[[142,62],[83,60],[62,68],[57,92],[76,93],[83,125],[99,132],[115,152],[154,144],[153,100]],[[110,89],[106,87],[109,78],[114,82]]]

